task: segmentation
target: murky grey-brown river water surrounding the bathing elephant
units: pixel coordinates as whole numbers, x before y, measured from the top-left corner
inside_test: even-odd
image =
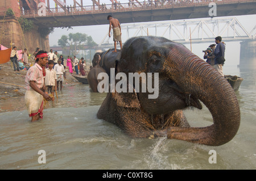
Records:
[[[24,98],[1,100],[0,169],[256,169],[256,71],[224,66],[224,73],[244,79],[236,92],[240,129],[225,145],[130,138],[97,119],[106,93],[90,92],[88,85],[65,86],[36,123],[30,123]],[[15,104],[21,105],[18,111],[11,110]],[[191,126],[212,124],[205,106],[200,111],[186,110],[185,115]],[[46,163],[39,164],[39,150],[45,151]],[[216,163],[209,162],[211,156]]]

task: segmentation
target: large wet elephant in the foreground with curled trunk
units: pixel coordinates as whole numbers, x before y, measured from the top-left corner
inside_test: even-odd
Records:
[[[159,96],[148,99],[148,90],[108,92],[97,112],[98,119],[137,138],[166,136],[220,146],[236,135],[240,107],[234,90],[220,73],[184,45],[164,37],[133,37],[123,45],[115,64],[115,75],[158,73]],[[183,110],[201,110],[201,102],[212,114],[213,124],[190,127]]]

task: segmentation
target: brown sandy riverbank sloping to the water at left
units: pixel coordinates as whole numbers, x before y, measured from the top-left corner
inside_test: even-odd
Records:
[[[26,92],[25,77],[27,70],[14,71],[10,61],[6,64],[1,64],[0,67],[0,101],[8,99],[9,101],[17,102]],[[67,68],[65,70],[67,78],[64,80],[64,86],[81,84],[69,73]],[[18,104],[17,107],[19,107]],[[16,107],[13,107],[13,110],[15,111]],[[0,112],[4,111],[0,110]]]

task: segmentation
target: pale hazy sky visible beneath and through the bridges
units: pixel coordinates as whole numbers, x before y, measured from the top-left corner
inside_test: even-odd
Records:
[[[79,1],[78,1],[79,2]],[[128,2],[128,0],[119,1],[121,3]],[[84,6],[86,5],[92,5],[92,1],[83,1]],[[110,4],[111,2],[109,0],[100,0],[100,3],[106,3]],[[67,5],[73,6],[73,0],[67,0]],[[230,16],[232,17],[232,16]],[[246,29],[247,32],[250,33],[251,30],[255,27],[255,19],[256,15],[245,15],[245,16],[236,16],[238,22],[242,24],[242,26]],[[106,20],[106,23],[108,21]],[[125,25],[122,24],[121,26]],[[69,33],[86,33],[89,36],[92,36],[93,40],[100,44],[100,42],[104,39],[106,33],[108,33],[109,25],[97,25],[97,26],[82,26],[82,27],[72,27],[73,30],[67,30],[67,28],[61,29],[61,28],[55,28],[55,31],[49,35],[49,44],[50,46],[57,45],[57,41],[60,39],[62,35],[68,35]],[[154,29],[154,28],[153,28]],[[159,30],[157,30],[159,31]],[[255,33],[255,32],[254,32]],[[125,34],[125,35],[123,35]],[[133,35],[133,33],[129,34],[130,37]],[[155,35],[154,32],[150,32],[150,35]],[[162,35],[162,33],[158,32],[158,36]],[[125,43],[126,41],[126,33],[122,33],[122,41]],[[168,38],[168,37],[167,37]],[[112,38],[111,38],[112,40]],[[225,41],[225,39],[224,39]],[[112,41],[110,41],[112,43]],[[214,39],[212,41],[214,43]],[[185,44],[185,46],[190,49],[190,44]],[[206,49],[209,46],[209,43],[201,43],[201,44],[195,44],[192,41],[192,52],[195,53],[197,56],[203,58],[204,53],[202,53],[203,49]],[[238,65],[239,59],[240,59],[240,42],[232,41],[226,43],[226,65]]]

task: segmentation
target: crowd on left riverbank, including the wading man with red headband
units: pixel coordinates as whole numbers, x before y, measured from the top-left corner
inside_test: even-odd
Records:
[[[68,56],[67,66],[64,66],[64,57],[60,55],[58,58],[58,52],[51,49],[48,53],[40,48],[36,48],[33,53],[35,59],[31,62],[34,65],[28,63],[27,49],[24,49],[21,62],[19,62],[19,53],[16,47],[13,47],[11,51],[10,60],[13,62],[14,71],[20,71],[23,62],[23,66],[27,66],[27,74],[25,78],[26,94],[25,103],[30,115],[31,121],[34,122],[43,117],[43,102],[44,99],[54,101],[54,94],[56,91],[63,89],[63,82],[66,78],[67,68],[70,74],[86,75],[86,64],[84,58],[80,60],[74,56]]]

